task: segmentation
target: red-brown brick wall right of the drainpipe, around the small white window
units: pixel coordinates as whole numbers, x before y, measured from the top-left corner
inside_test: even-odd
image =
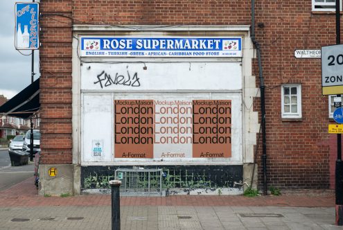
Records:
[[[321,60],[296,59],[294,50],[335,44],[335,15],[313,14],[311,1],[258,1],[258,22],[265,25],[256,27],[256,39],[266,85],[267,183],[328,188],[328,96],[322,96]],[[257,75],[258,69],[254,71]],[[280,86],[285,83],[301,84],[301,121],[281,119]],[[261,157],[258,162],[261,166]],[[261,168],[259,179],[261,185]]]

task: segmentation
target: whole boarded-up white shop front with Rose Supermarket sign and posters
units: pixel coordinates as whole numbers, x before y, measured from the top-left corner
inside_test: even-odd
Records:
[[[243,35],[78,34],[81,190],[161,168],[170,194],[241,193]]]

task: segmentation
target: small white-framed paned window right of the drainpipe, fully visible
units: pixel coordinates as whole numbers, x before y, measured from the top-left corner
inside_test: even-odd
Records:
[[[281,86],[281,118],[301,118],[301,85]]]

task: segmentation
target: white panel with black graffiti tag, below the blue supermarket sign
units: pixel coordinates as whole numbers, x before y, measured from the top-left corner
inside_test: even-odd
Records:
[[[81,66],[81,89],[240,90],[241,76],[238,62],[85,63]]]

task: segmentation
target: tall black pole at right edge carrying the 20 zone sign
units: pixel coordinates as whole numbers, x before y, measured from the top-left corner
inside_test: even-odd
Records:
[[[336,0],[336,44],[341,44],[340,32],[340,0]],[[340,97],[341,95],[337,95]],[[342,162],[342,136],[337,134],[337,160],[335,167],[335,202],[336,220],[338,226],[343,225],[343,162]]]

